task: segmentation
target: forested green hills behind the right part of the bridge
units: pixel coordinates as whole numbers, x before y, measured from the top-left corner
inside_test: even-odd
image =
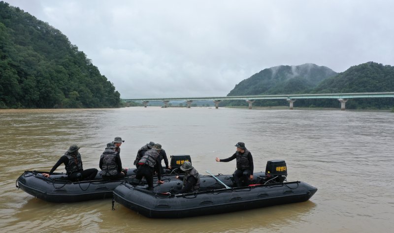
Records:
[[[313,67],[312,67],[313,68]],[[314,67],[316,68],[316,67]],[[376,62],[366,62],[352,66],[342,73],[333,73],[325,69],[314,69],[309,74],[285,79],[273,77],[272,68],[265,69],[235,86],[230,95],[258,94],[304,94],[304,93],[353,93],[353,92],[389,92],[394,91],[394,67]],[[279,69],[286,69],[280,66]],[[276,71],[276,73],[285,72]],[[324,78],[323,74],[328,74]],[[311,83],[311,76],[320,77],[319,83]],[[245,88],[243,88],[245,87]],[[246,88],[247,87],[247,88]],[[223,101],[222,106],[247,106],[243,100]],[[286,100],[257,100],[254,106],[288,106]],[[296,107],[339,108],[336,99],[298,99]],[[348,109],[389,109],[394,106],[394,98],[353,98],[346,103]]]

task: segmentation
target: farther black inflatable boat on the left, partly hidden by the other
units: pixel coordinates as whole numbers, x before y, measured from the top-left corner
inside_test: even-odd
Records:
[[[190,155],[172,155],[172,170],[163,171],[164,180],[175,179],[181,163],[180,161],[191,161]],[[128,169],[126,177],[121,179],[102,179],[99,173],[95,179],[79,182],[67,180],[67,175],[63,173],[53,173],[50,177],[45,177],[38,171],[26,171],[16,180],[16,187],[26,193],[47,202],[71,203],[88,200],[112,198],[112,191],[128,177],[135,175],[135,168]],[[157,181],[157,176],[154,178]],[[143,179],[141,184],[146,182]]]

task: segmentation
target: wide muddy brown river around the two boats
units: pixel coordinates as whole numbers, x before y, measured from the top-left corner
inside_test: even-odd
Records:
[[[0,110],[0,232],[387,232],[394,228],[394,114],[339,110],[132,107]],[[25,170],[49,171],[68,146],[98,168],[121,136],[124,167],[150,141],[190,154],[201,173],[232,174],[237,142],[255,171],[286,160],[288,180],[318,188],[308,201],[185,219],[149,219],[111,200],[53,204],[17,190]],[[64,166],[57,172],[64,172]]]

